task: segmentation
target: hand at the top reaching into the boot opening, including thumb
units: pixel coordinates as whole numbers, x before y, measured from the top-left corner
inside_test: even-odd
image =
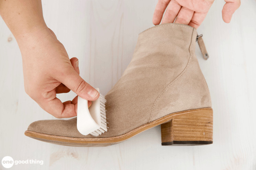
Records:
[[[207,15],[214,0],[159,0],[153,15],[153,24],[186,24],[198,28]],[[233,13],[239,8],[240,0],[225,0],[222,18],[230,23]],[[166,10],[166,12],[165,12]],[[165,12],[165,15],[163,16]],[[176,20],[175,20],[176,19]]]

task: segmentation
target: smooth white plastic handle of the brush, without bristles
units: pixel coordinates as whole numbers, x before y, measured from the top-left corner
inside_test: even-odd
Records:
[[[98,88],[96,90],[99,91]],[[77,101],[77,130],[88,135],[100,128],[100,97],[96,101],[92,101],[88,109],[88,101],[78,96]]]

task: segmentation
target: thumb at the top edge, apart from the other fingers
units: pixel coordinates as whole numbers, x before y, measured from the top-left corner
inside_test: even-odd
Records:
[[[232,15],[239,8],[240,0],[225,0],[225,4],[222,9],[222,19],[225,23],[230,23]]]

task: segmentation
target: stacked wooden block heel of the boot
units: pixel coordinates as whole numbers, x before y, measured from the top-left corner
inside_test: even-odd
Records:
[[[212,143],[212,109],[175,115],[161,125],[162,145],[200,145]]]

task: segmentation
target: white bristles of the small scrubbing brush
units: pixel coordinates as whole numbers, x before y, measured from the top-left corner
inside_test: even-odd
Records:
[[[93,136],[99,136],[104,132],[107,132],[108,127],[107,127],[107,117],[106,117],[106,113],[107,110],[105,109],[105,104],[106,104],[107,100],[105,99],[105,96],[100,94],[100,116],[101,116],[101,126],[100,129],[90,133]]]

